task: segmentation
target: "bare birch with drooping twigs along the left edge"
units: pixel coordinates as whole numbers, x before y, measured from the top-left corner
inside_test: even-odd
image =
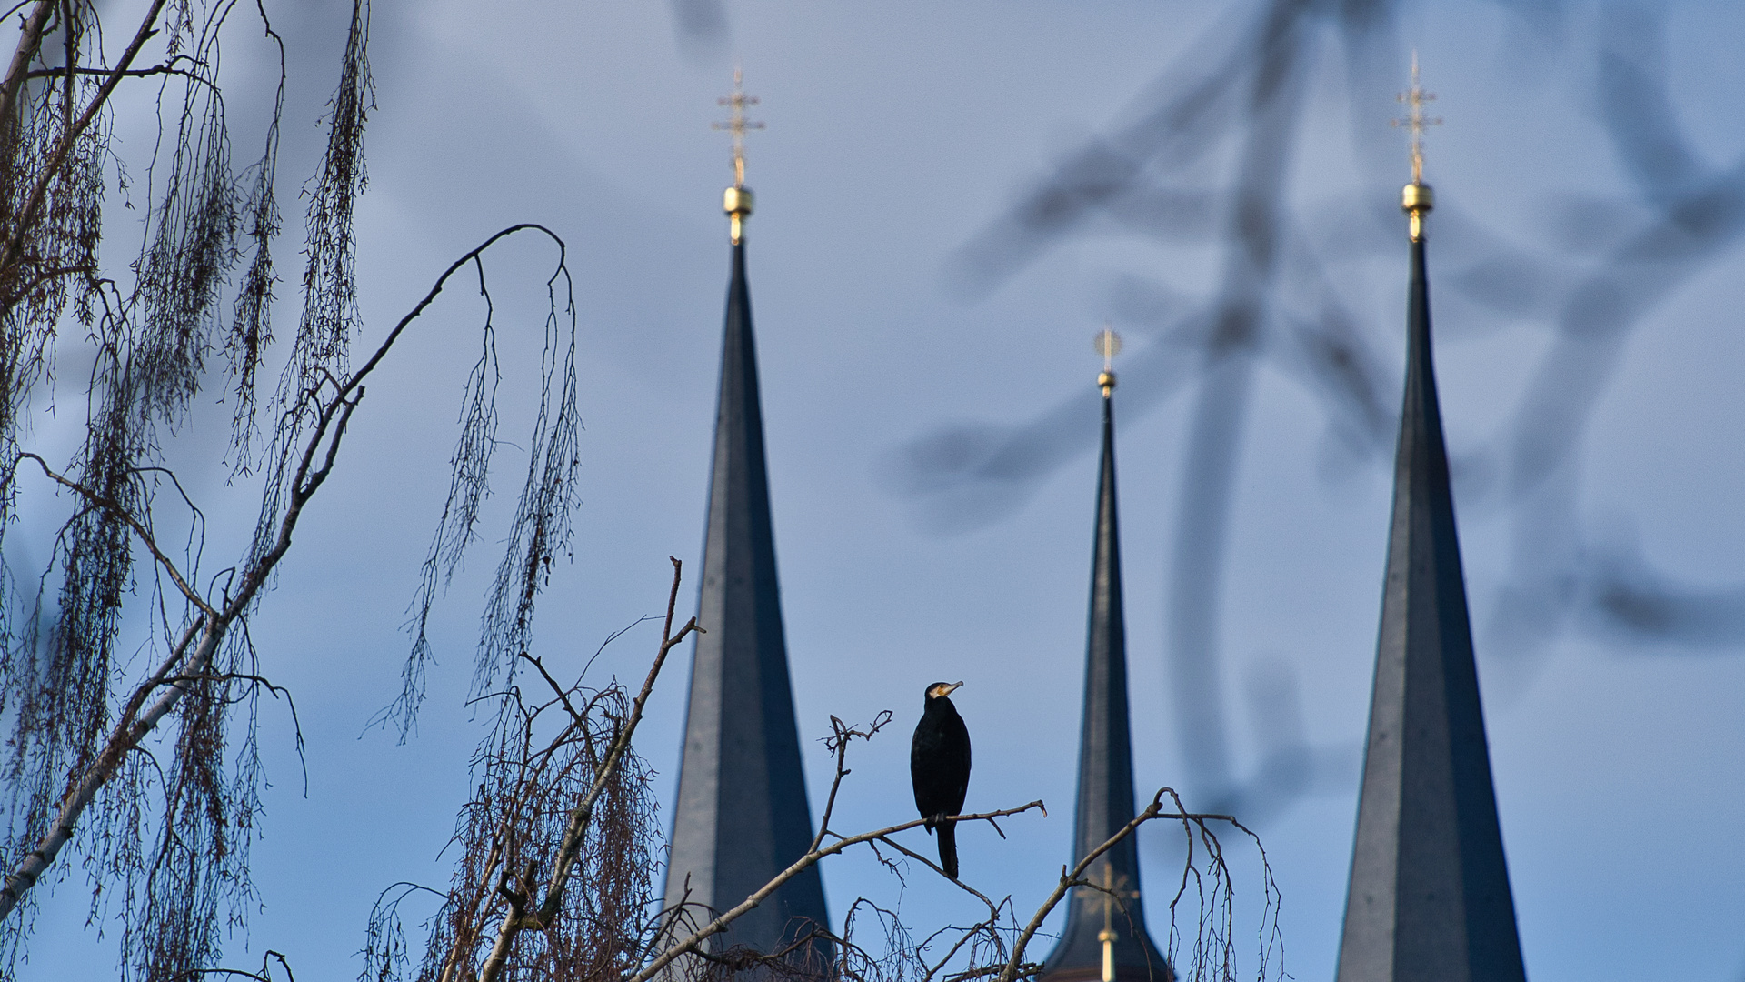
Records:
[[[407,688],[421,699],[422,624],[440,584],[476,538],[497,446],[501,374],[489,315],[487,259],[508,236],[555,246],[544,353],[527,475],[483,617],[478,678],[513,673],[537,594],[565,550],[576,501],[576,313],[564,243],[513,225],[459,257],[361,365],[352,213],[365,189],[363,136],[373,108],[368,0],[354,0],[326,107],[326,150],[309,199],[302,315],[274,344],[281,276],[276,176],[286,52],[265,0],[30,0],[0,80],[0,543],[21,496],[54,501],[61,524],[45,563],[0,552],[0,722],[9,739],[0,861],[0,979],[26,949],[37,884],[79,858],[92,916],[120,924],[120,975],[169,982],[209,972],[222,931],[244,921],[250,842],[260,821],[257,711],[274,687],[248,634],[305,505],[340,458],[365,383],[455,278],[485,295],[482,346],[461,405],[448,501],[414,598]],[[136,17],[120,35],[113,17]],[[262,133],[227,126],[220,49],[237,33],[267,45],[279,80]],[[122,38],[120,49],[105,47]],[[115,93],[157,89],[161,138],[143,161],[113,142]],[[150,96],[147,96],[150,98]],[[150,101],[147,103],[150,105]],[[232,161],[232,147],[258,157]],[[133,187],[131,173],[145,173]],[[143,192],[143,243],[129,262],[99,255],[105,204]],[[239,276],[237,276],[239,273]],[[56,398],[56,351],[84,344],[86,426],[65,460],[37,447],[28,409]],[[262,391],[262,374],[281,367]],[[168,468],[192,439],[195,397],[227,397],[227,460],[262,491],[253,535],[234,564],[204,557],[201,508]],[[14,533],[16,538],[16,533]],[[492,538],[497,538],[496,535]],[[147,636],[143,657],[119,650]],[[143,667],[138,667],[143,666]],[[241,732],[237,732],[237,727]],[[265,966],[263,970],[265,972]]]

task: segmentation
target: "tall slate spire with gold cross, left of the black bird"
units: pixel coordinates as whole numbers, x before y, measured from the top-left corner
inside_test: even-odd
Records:
[[[733,107],[735,185],[726,192],[733,274],[721,351],[721,402],[703,535],[703,584],[696,622],[707,631],[691,659],[691,701],[674,807],[667,905],[722,912],[775,879],[811,844],[811,811],[801,767],[799,727],[787,673],[782,603],[770,522],[763,411],[752,302],[745,281],[743,222],[752,194],[743,183],[738,138],[749,128],[738,89]],[[698,923],[701,910],[691,909]],[[717,937],[714,951],[745,945],[777,951],[808,930],[829,926],[817,867],[790,879]],[[806,952],[799,952],[804,956]],[[827,959],[815,945],[811,956]]]

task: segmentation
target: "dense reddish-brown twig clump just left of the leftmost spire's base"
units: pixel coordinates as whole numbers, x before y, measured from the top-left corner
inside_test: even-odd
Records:
[[[419,982],[497,979],[621,979],[644,961],[651,879],[660,833],[651,772],[630,746],[642,708],[668,654],[693,631],[674,631],[681,564],[660,648],[635,697],[612,681],[560,683],[544,660],[520,660],[539,674],[483,695],[492,727],[473,758],[478,790],[461,809],[450,842],[459,856],[412,975]],[[621,633],[619,633],[621,634]],[[616,638],[616,636],[614,636]],[[396,884],[370,916],[365,979],[403,979],[410,968]]]

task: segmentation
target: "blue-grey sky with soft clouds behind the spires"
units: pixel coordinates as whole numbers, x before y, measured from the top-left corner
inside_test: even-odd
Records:
[[[815,741],[829,715],[867,720],[890,708],[899,732],[857,751],[836,826],[906,819],[906,730],[920,688],[963,678],[955,701],[977,748],[968,807],[1050,804],[1049,819],[1007,823],[1009,840],[965,830],[965,879],[1014,895],[1021,910],[1052,886],[1070,837],[1091,559],[1096,416],[1087,397],[1101,367],[1091,335],[1115,322],[1127,335],[1126,363],[1180,376],[1169,384],[1124,376],[1117,391],[1138,781],[1173,785],[1190,806],[1215,795],[1174,725],[1164,598],[1187,428],[1199,386],[1213,384],[1199,381],[1190,351],[1173,360],[1171,332],[1192,327],[1194,311],[1222,288],[1223,204],[1215,231],[1197,239],[1089,222],[975,295],[953,269],[963,246],[998,227],[1028,190],[1092,140],[1124,133],[1258,9],[740,0],[724,7],[726,37],[688,44],[672,9],[654,2],[506,0],[489,14],[445,0],[415,10],[380,3],[372,31],[379,108],[358,224],[361,342],[373,346],[441,267],[501,225],[537,220],[571,248],[585,503],[574,563],[553,575],[539,613],[546,660],[579,669],[611,631],[660,608],[668,554],[698,557],[728,271],[719,192],[731,180],[726,140],[708,124],[738,61],[763,100],[754,117],[770,126],[750,136],[747,183],[759,208],[747,241],[811,793],[827,788],[829,760]],[[284,175],[311,173],[319,154],[314,119],[344,12],[311,3],[276,24],[298,52],[293,70],[304,72],[288,101]],[[1574,398],[1536,390],[1546,365],[1569,355],[1557,339],[1572,334],[1550,325],[1544,304],[1529,297],[1509,311],[1487,288],[1522,269],[1558,297],[1595,280],[1628,285],[1635,267],[1605,264],[1616,255],[1607,236],[1649,222],[1663,204],[1602,124],[1619,96],[1598,87],[1595,52],[1619,49],[1632,30],[1607,28],[1619,23],[1609,16],[1595,5],[1551,17],[1539,7],[1408,3],[1377,54],[1380,66],[1351,77],[1331,28],[1314,28],[1283,208],[1302,232],[1302,255],[1319,264],[1319,281],[1375,355],[1391,433],[1405,308],[1405,224],[1394,208],[1408,171],[1405,140],[1387,121],[1417,49],[1447,121],[1429,135],[1426,166],[1440,204],[1431,220],[1436,356],[1529,975],[1736,982],[1745,973],[1736,835],[1745,652],[1722,601],[1745,584],[1736,494],[1745,482],[1736,384],[1745,250],[1722,245],[1646,264],[1677,266],[1677,276],[1628,320],[1609,362],[1581,362],[1588,374],[1570,384],[1591,381],[1593,402],[1560,444],[1567,461],[1543,489],[1508,491],[1511,433],[1536,393]],[[1742,44],[1745,14],[1731,5],[1666,7],[1659,79],[1670,110],[1661,119],[1714,173],[1745,154]],[[260,84],[263,54],[248,44],[227,51],[241,91]],[[246,100],[232,93],[230,103]],[[253,117],[234,112],[241,131]],[[1228,187],[1246,126],[1246,117],[1232,122],[1197,169],[1180,173],[1197,187]],[[150,133],[122,131],[129,136]],[[1584,201],[1607,208],[1577,208]],[[286,196],[284,208],[295,215],[300,204]],[[281,255],[295,250],[298,224],[288,227]],[[525,243],[492,262],[510,372],[506,433],[529,409],[515,379],[529,377],[537,358],[550,260],[546,246]],[[1304,283],[1291,276],[1281,292]],[[1284,311],[1314,306],[1276,301]],[[288,325],[295,308],[281,304]],[[304,977],[349,977],[375,893],[401,879],[447,879],[438,853],[480,736],[461,702],[492,533],[438,612],[441,664],[419,732],[405,746],[359,732],[398,690],[403,610],[441,505],[478,320],[476,297],[455,290],[417,327],[415,346],[384,365],[333,484],[251,624],[267,674],[295,692],[309,778],[305,793],[284,746],[288,716],[269,708],[272,788],[255,846],[265,907],[236,938],[236,965],[272,947]],[[1160,355],[1143,362],[1148,351]],[[1317,395],[1286,344],[1267,351],[1234,430],[1213,615],[1216,718],[1232,779],[1255,774],[1269,748],[1310,748],[1304,792],[1276,802],[1258,832],[1283,889],[1286,968],[1324,980],[1356,814],[1391,453],[1330,435],[1337,400]],[[1152,395],[1141,397],[1146,384]],[[904,491],[902,461],[916,440],[951,426],[1000,433],[1056,407],[1070,432],[1078,405],[1080,451],[1068,446],[1017,489],[972,488],[946,512]],[[218,550],[241,549],[258,501],[225,486],[216,456],[227,421],[229,409],[215,407],[176,451]],[[75,423],[63,411],[44,439],[65,440],[61,428]],[[497,488],[497,528],[511,481]],[[963,521],[965,510],[979,522]],[[1557,589],[1586,589],[1572,570],[1653,570],[1682,591],[1666,596],[1715,603],[1694,634],[1609,629],[1579,610],[1508,620],[1509,596],[1541,603]],[[695,603],[695,584],[681,596]],[[654,629],[639,627],[599,664],[640,678],[654,643]],[[670,669],[639,734],[663,795],[677,776],[684,671]],[[1160,886],[1180,858],[1162,830],[1148,832],[1141,851],[1148,914],[1160,924]],[[1258,891],[1251,863],[1239,877],[1241,896]],[[829,865],[824,881],[838,914],[859,895],[900,900],[906,917],[927,928],[972,912],[942,882],[911,877],[899,891],[866,856]],[[73,870],[38,919],[23,977],[110,970],[110,942],[80,931],[82,914],[84,874]]]

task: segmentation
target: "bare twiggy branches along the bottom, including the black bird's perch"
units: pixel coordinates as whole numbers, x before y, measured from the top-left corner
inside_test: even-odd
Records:
[[[829,924],[810,924],[780,951],[717,949],[714,938],[726,935],[738,917],[796,875],[852,847],[871,849],[899,882],[913,868],[909,863],[941,877],[944,870],[899,839],[925,819],[853,835],[831,828],[838,793],[852,772],[850,746],[876,737],[892,722],[892,713],[883,711],[860,727],[831,716],[825,746],[836,774],[806,853],[728,910],[688,902],[660,907],[653,898],[654,863],[649,861],[660,851],[649,772],[630,743],[667,655],[686,634],[701,631],[691,619],[674,633],[677,594],[679,561],[674,559],[660,648],[635,699],[616,681],[588,688],[578,680],[565,687],[541,659],[527,654],[522,660],[537,669],[541,695],[529,697],[511,687],[485,697],[497,713],[475,758],[478,792],[462,809],[452,840],[459,851],[454,881],[447,891],[400,882],[379,896],[365,938],[363,980],[1017,982],[1042,970],[1031,944],[1049,914],[1073,889],[1103,891],[1087,870],[1141,825],[1157,819],[1180,823],[1187,846],[1181,879],[1169,900],[1167,944],[1171,963],[1185,972],[1178,975],[1176,966],[1159,965],[1159,982],[1225,982],[1239,975],[1235,882],[1215,825],[1228,825],[1255,842],[1260,865],[1255,977],[1283,977],[1279,891],[1260,839],[1232,816],[1187,811],[1171,788],[1159,790],[1145,811],[1077,865],[1061,868],[1047,900],[1024,921],[1010,896],[993,900],[946,877],[974,896],[986,917],[916,937],[893,909],[862,896],[850,905],[841,933]],[[956,819],[986,821],[1003,839],[998,819],[1030,813],[1047,814],[1037,800]],[[414,972],[401,907],[419,895],[435,898],[436,912],[428,921],[424,954]],[[1188,926],[1178,917],[1188,912],[1183,903],[1192,909]]]

